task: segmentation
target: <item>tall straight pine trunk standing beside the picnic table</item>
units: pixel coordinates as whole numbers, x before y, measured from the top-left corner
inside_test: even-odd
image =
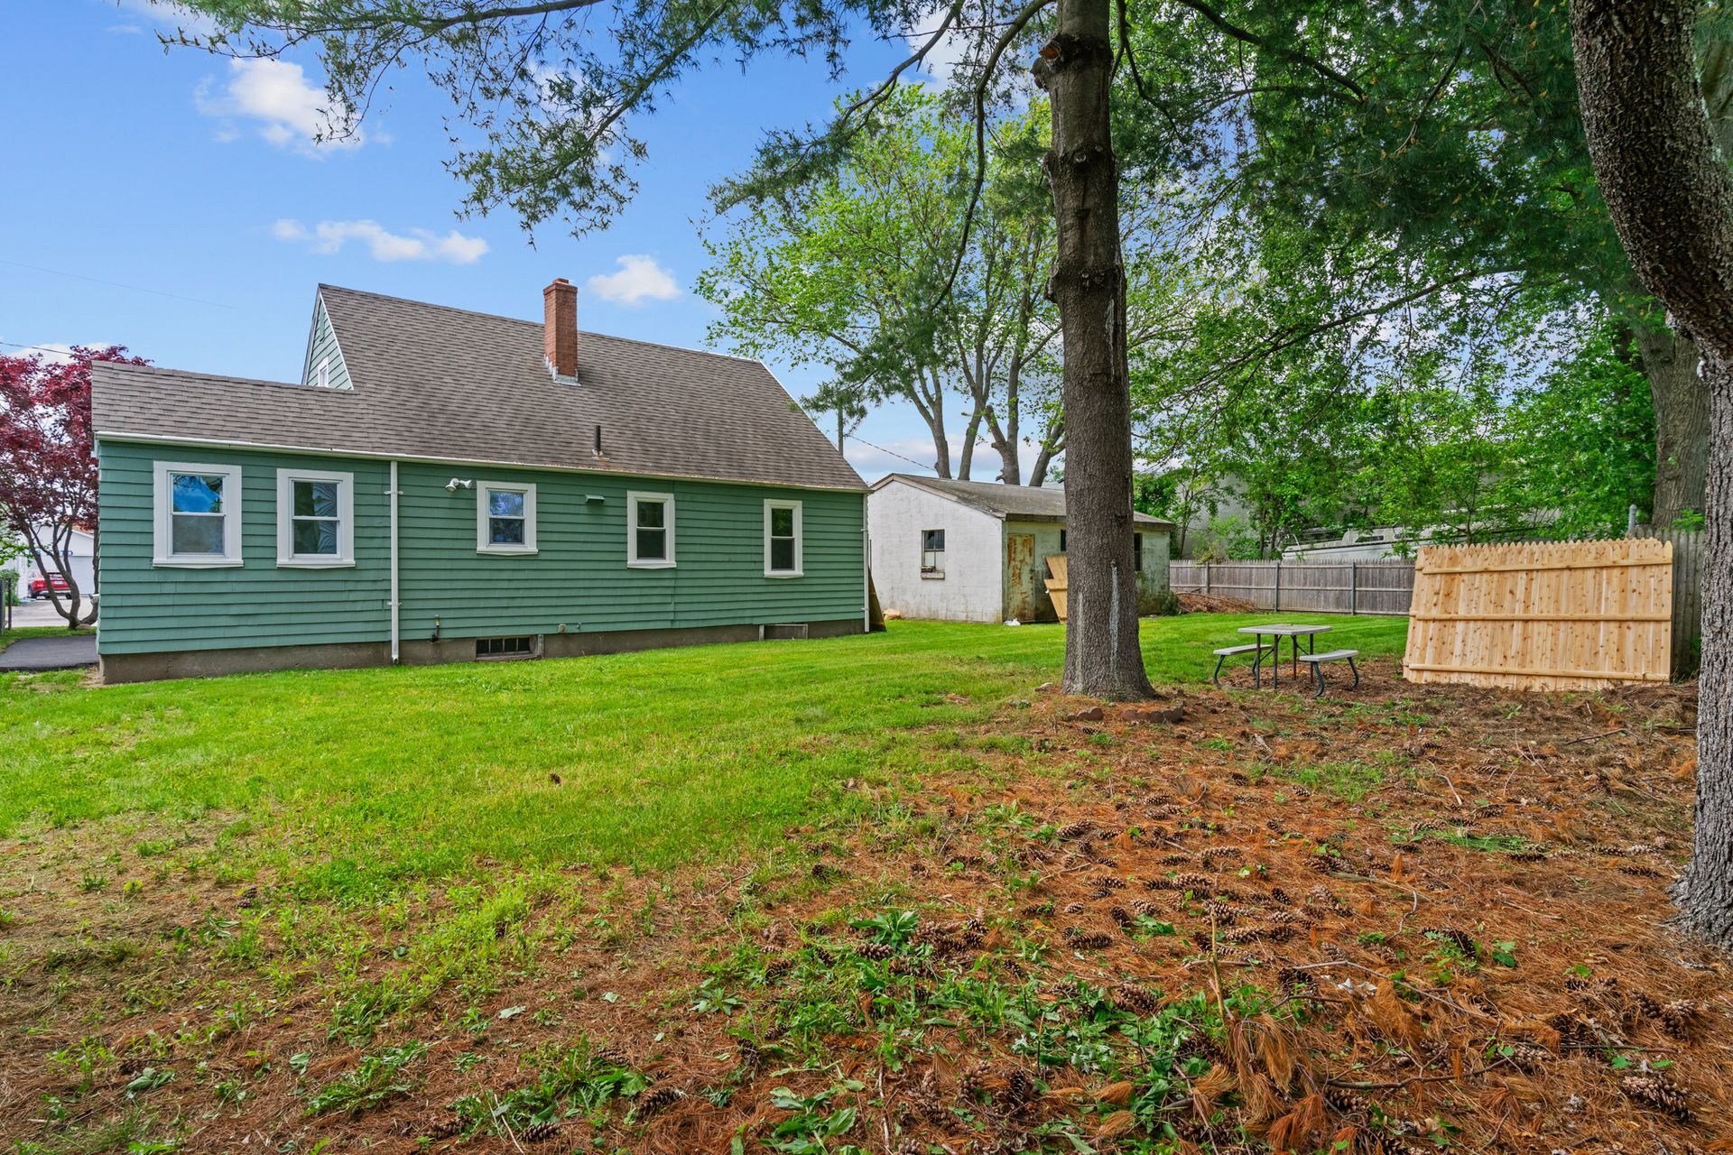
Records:
[[[1132,568],[1132,393],[1125,353],[1120,168],[1107,95],[1109,0],[1059,0],[1035,80],[1054,106],[1047,180],[1059,251],[1048,294],[1064,332],[1069,594],[1064,689],[1151,698]]]

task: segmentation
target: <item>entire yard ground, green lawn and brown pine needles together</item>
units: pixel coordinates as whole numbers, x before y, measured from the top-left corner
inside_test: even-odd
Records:
[[[1352,694],[1198,686],[1248,620],[1147,623],[1178,722],[1038,627],[14,681],[0,1141],[1714,1150],[1693,693],[1411,687],[1341,618]]]

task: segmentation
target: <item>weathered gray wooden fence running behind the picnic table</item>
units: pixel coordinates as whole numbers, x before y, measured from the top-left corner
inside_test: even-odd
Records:
[[[1312,613],[1407,613],[1414,561],[1175,561],[1175,594],[1244,597],[1260,610]]]

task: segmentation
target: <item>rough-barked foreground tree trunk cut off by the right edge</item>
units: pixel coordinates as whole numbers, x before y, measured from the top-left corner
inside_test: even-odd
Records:
[[[1638,279],[1690,334],[1709,391],[1697,828],[1679,921],[1733,945],[1733,177],[1710,139],[1695,0],[1574,0],[1582,126]]]

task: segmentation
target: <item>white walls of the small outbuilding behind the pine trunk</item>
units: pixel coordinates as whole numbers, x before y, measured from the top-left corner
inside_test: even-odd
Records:
[[[1172,521],[1135,514],[1137,601],[1168,589]],[[866,497],[879,604],[939,622],[1054,622],[1047,558],[1066,552],[1066,492],[891,473]]]

